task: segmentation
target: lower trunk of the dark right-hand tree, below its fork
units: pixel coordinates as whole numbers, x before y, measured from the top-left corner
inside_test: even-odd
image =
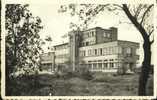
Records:
[[[139,78],[139,96],[146,96],[146,85],[149,78],[150,66],[151,66],[151,43],[144,41],[144,60],[142,63],[142,69]]]

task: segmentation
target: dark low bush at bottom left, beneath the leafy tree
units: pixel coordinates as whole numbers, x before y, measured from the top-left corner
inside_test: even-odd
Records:
[[[43,87],[39,82],[38,74],[23,75],[10,79],[6,90],[8,96],[25,96],[30,95],[30,91]]]

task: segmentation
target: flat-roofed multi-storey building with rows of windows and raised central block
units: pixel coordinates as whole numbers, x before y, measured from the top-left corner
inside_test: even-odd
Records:
[[[136,54],[139,43],[118,40],[117,28],[91,28],[69,32],[69,43],[53,47],[51,69],[68,66],[75,70],[79,66],[91,71],[117,72],[119,67],[132,70],[139,59]]]

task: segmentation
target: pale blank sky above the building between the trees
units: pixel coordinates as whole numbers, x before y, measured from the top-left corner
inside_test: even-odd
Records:
[[[47,44],[50,46],[65,43],[68,38],[62,38],[64,34],[67,34],[70,22],[77,23],[77,17],[71,17],[68,13],[58,13],[59,4],[30,4],[29,9],[33,16],[39,16],[42,20],[43,29],[40,31],[41,38],[46,36],[52,37],[52,43]],[[119,24],[119,21],[122,23]],[[127,22],[127,23],[126,23]],[[140,43],[140,54],[139,63],[143,59],[142,43],[143,39],[137,29],[130,24],[126,15],[121,12],[119,15],[105,11],[101,13],[96,19],[89,25],[89,28],[93,27],[117,27],[118,28],[118,39],[127,40]],[[43,46],[45,52],[47,52],[47,45]]]

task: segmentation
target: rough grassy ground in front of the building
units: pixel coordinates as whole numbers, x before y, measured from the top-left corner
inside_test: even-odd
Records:
[[[41,74],[38,76],[39,86],[27,89],[27,92],[21,91],[20,95],[136,96],[138,79],[138,74],[113,76],[95,73],[92,80],[79,77],[56,78],[51,74]]]

